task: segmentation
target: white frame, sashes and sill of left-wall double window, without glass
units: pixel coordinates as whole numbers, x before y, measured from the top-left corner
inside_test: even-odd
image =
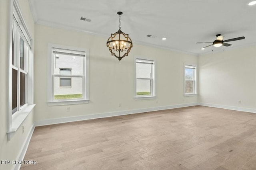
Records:
[[[24,122],[26,117],[32,111],[34,104],[33,92],[33,48],[31,47],[32,38],[27,29],[26,23],[23,19],[21,10],[16,0],[9,1],[9,15],[8,15],[8,71],[7,71],[7,82],[9,84],[7,89],[7,139],[10,141],[15,135],[20,125]],[[14,25],[15,24],[15,25]],[[12,36],[14,36],[14,65],[12,65]],[[24,60],[24,70],[20,68],[20,54],[18,48],[20,48],[20,38],[23,39],[24,44],[26,43],[27,59]],[[16,49],[15,49],[16,47]],[[16,63],[16,64],[15,64]],[[18,71],[17,75],[17,111],[12,114],[12,69]],[[20,106],[20,73],[26,75],[25,80],[25,104]]]

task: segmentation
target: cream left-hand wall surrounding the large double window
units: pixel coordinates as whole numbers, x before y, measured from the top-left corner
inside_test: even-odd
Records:
[[[23,149],[24,142],[28,137],[28,133],[34,124],[34,113],[30,113],[24,123],[25,131],[22,134],[22,128],[19,128],[11,141],[7,141],[7,39],[8,39],[8,14],[9,4],[7,0],[0,0],[0,160],[18,160],[20,152]],[[34,20],[30,12],[30,6],[28,1],[18,1],[20,10],[24,20],[28,26],[28,30],[34,39]],[[14,165],[2,165],[1,170],[10,170],[14,168]]]

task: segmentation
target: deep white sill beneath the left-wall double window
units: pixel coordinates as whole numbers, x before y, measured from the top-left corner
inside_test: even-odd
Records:
[[[10,141],[12,137],[14,136],[15,132],[18,130],[20,125],[23,123],[23,121],[26,119],[26,117],[29,115],[29,113],[32,111],[32,109],[36,106],[36,104],[28,105],[27,107],[24,107],[12,118],[12,127],[10,131],[7,132],[7,139]]]

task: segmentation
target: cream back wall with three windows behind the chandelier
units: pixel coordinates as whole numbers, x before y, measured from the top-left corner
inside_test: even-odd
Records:
[[[194,55],[135,43],[128,57],[119,62],[106,47],[108,37],[37,24],[35,32],[36,121],[197,102],[197,96],[183,96],[184,62],[197,64]],[[89,104],[70,105],[70,111],[66,111],[66,106],[47,105],[47,43],[89,49]],[[154,100],[133,98],[134,56],[156,61]]]

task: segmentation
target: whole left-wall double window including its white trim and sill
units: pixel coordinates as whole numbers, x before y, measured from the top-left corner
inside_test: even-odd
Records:
[[[11,140],[33,109],[32,38],[16,0],[10,2],[7,138]]]

